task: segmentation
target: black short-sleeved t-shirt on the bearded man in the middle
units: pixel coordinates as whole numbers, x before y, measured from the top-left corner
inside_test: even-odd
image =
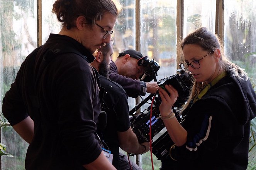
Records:
[[[103,96],[103,110],[107,113],[107,126],[103,131],[103,139],[114,155],[113,165],[118,169],[119,141],[117,132],[127,131],[131,127],[127,94],[119,84],[101,75],[98,77],[100,85],[106,90]]]

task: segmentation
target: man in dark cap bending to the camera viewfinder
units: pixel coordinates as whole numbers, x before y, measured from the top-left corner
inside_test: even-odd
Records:
[[[158,90],[156,82],[138,80],[145,70],[144,66],[137,64],[142,57],[139,51],[129,49],[119,53],[116,61],[110,63],[110,80],[120,84],[132,98],[137,98],[139,95],[145,96],[146,92],[154,94]]]

